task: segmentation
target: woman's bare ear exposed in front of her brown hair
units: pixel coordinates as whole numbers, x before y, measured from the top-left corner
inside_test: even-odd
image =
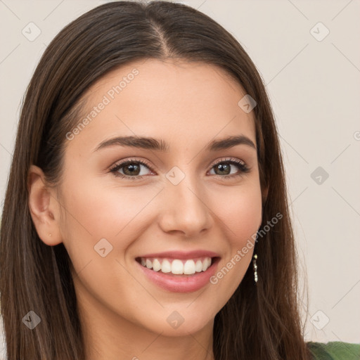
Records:
[[[46,187],[44,172],[31,165],[27,174],[29,210],[39,238],[49,246],[62,243],[60,234],[60,205],[54,191]]]

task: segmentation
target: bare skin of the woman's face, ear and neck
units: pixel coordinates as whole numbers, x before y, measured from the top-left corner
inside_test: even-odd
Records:
[[[134,68],[139,74],[94,120],[72,140],[64,139],[58,188],[50,188],[32,165],[30,212],[39,238],[49,246],[63,243],[72,260],[86,359],[212,360],[214,316],[242,281],[252,249],[216,285],[193,293],[150,283],[135,258],[210,250],[221,257],[219,271],[257,232],[262,191],[256,149],[240,144],[205,150],[210,141],[236,135],[256,146],[253,111],[238,106],[245,92],[220,68],[148,59],[91,86],[84,117]],[[115,136],[162,139],[169,151],[118,145],[95,150]],[[242,160],[250,172],[236,165],[217,171],[214,165],[229,158]],[[129,166],[117,171],[126,179],[110,171],[128,159],[150,165],[141,165],[140,179],[130,179]],[[167,178],[173,167],[184,174],[177,185]],[[113,246],[105,257],[94,250],[103,238]],[[184,319],[177,328],[167,322],[173,311]]]

